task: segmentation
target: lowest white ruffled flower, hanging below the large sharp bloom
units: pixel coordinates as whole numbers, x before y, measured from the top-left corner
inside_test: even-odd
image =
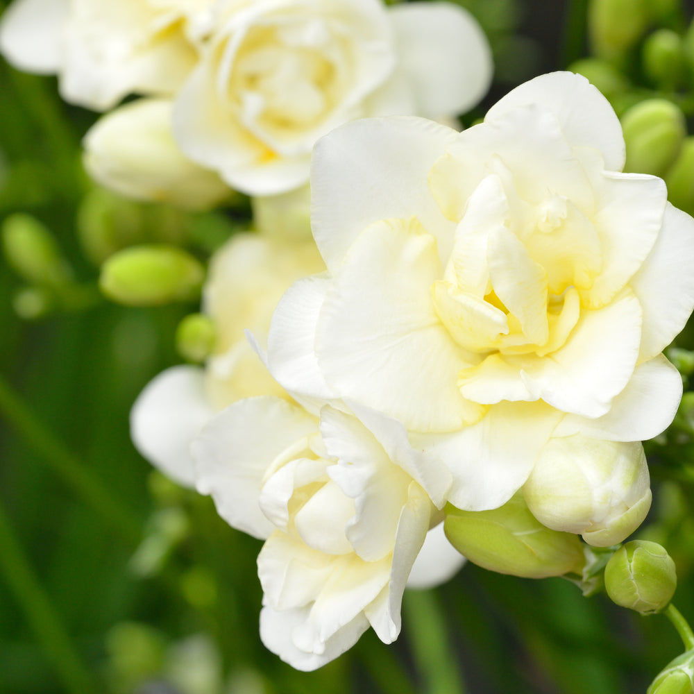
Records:
[[[270,650],[314,670],[369,625],[384,643],[397,638],[407,577],[450,485],[403,425],[363,407],[325,406],[316,418],[287,400],[250,398],[215,416],[193,451],[198,491],[230,525],[266,539],[260,635]],[[419,584],[462,563],[445,549],[455,561],[420,564]]]

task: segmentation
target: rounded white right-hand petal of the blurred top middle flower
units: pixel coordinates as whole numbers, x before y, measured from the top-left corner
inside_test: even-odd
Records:
[[[455,115],[482,99],[493,66],[489,42],[472,15],[443,2],[396,5],[389,14],[417,113],[431,118]]]

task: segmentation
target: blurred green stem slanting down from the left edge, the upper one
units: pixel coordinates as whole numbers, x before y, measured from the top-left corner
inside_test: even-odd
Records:
[[[54,473],[69,484],[130,545],[142,539],[142,524],[121,500],[94,477],[90,471],[47,430],[31,409],[0,375],[0,414],[22,435],[28,446]]]

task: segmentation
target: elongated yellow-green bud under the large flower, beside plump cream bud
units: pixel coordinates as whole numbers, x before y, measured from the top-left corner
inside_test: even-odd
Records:
[[[581,573],[584,555],[577,536],[541,525],[518,493],[491,511],[446,506],[443,529],[473,564],[498,573],[545,578]]]

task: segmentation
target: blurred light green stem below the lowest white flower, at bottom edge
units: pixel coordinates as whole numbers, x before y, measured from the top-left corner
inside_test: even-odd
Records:
[[[428,694],[464,694],[465,686],[434,591],[405,591],[405,620],[414,661]]]

